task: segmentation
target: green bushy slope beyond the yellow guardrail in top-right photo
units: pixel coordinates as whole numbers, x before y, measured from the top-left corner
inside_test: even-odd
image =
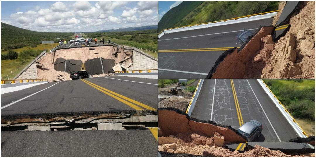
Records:
[[[184,2],[183,2],[184,3]],[[181,18],[173,18],[178,10],[184,10],[190,3],[170,9],[159,21],[159,31],[171,27],[194,25],[205,22],[225,20],[278,9],[279,1],[205,1]],[[169,14],[169,12],[171,12]],[[181,12],[182,13],[182,12]],[[166,16],[166,18],[164,18]],[[179,15],[180,16],[180,15]],[[164,25],[161,25],[164,24]]]

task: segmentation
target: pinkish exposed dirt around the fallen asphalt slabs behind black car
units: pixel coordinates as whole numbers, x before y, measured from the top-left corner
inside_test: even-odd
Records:
[[[131,56],[133,53],[131,51],[124,52],[122,48],[117,51],[117,48],[113,46],[93,47],[93,49],[94,50],[90,50],[89,47],[59,49],[55,52],[55,58],[54,53],[46,53],[45,57],[36,61],[38,78],[45,78],[49,82],[70,80],[70,75],[68,73],[54,70],[53,60],[56,60],[56,58],[81,60],[82,63],[88,59],[100,57],[104,59],[113,59],[115,64],[132,62]],[[115,57],[115,52],[118,52],[117,57]],[[104,74],[104,76],[106,76],[106,74]]]

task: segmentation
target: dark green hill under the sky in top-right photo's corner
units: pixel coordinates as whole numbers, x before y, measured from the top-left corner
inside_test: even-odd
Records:
[[[175,24],[189,14],[193,9],[197,8],[204,1],[183,1],[178,6],[170,9],[165,15],[162,16],[158,23],[159,31],[177,27]]]

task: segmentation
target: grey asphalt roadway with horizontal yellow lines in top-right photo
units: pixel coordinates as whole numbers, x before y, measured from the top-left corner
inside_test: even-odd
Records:
[[[238,33],[254,33],[259,26],[270,26],[271,21],[267,18],[163,35],[158,40],[159,78],[205,78],[225,50],[240,47]]]

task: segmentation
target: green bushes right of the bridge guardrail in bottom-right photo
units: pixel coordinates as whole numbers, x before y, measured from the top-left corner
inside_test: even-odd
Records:
[[[264,82],[293,117],[315,120],[315,80],[264,80]]]

